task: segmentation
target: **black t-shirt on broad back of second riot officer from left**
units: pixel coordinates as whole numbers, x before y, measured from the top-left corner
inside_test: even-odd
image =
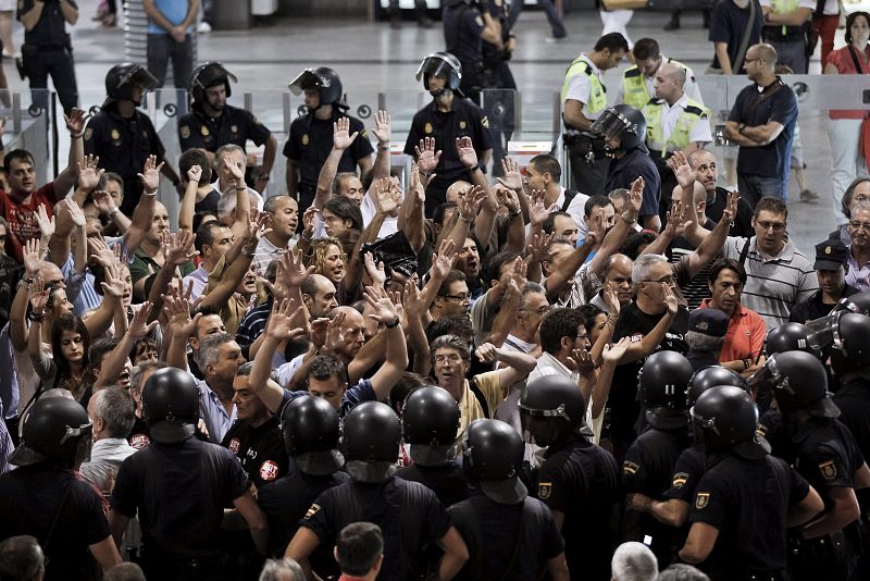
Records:
[[[250,485],[226,448],[195,437],[181,444],[151,442],[121,465],[112,508],[129,518],[138,511],[146,547],[210,557],[220,551],[224,507]]]

